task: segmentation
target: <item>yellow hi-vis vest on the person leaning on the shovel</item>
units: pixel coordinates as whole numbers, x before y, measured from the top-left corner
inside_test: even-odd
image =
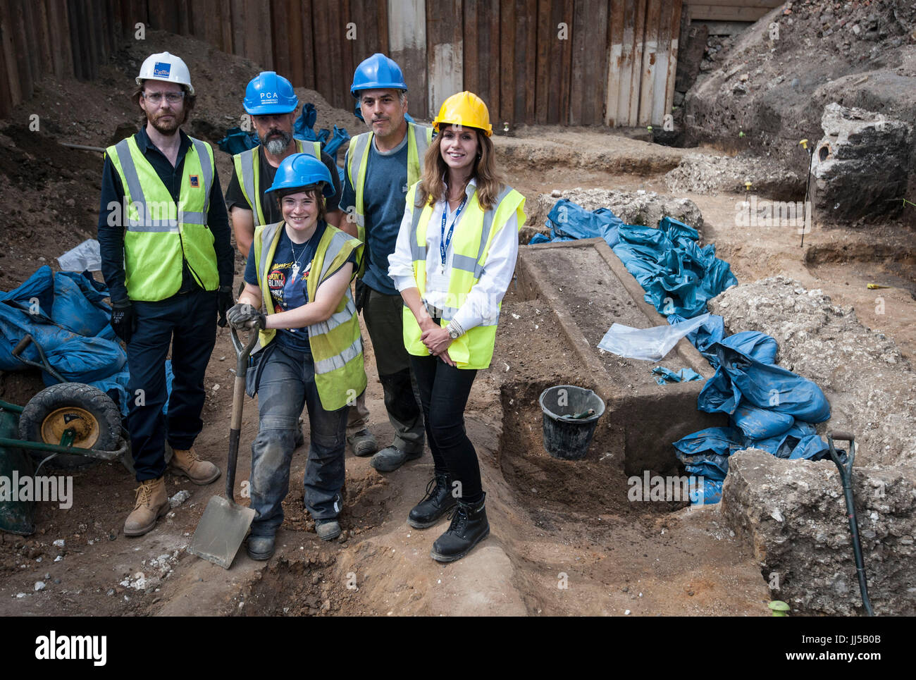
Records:
[[[283,222],[261,225],[255,229],[255,263],[257,280],[261,287],[261,298],[268,314],[274,313],[273,298],[267,286],[270,265],[284,228]],[[265,247],[267,246],[267,247]],[[340,269],[350,253],[358,246],[356,239],[333,225],[324,229],[315,257],[311,260],[311,273],[306,284],[309,300],[315,300],[315,293],[324,280]],[[354,403],[363,393],[366,385],[363,367],[363,340],[359,335],[359,317],[350,287],[327,321],[312,324],[309,328],[311,357],[315,364],[315,386],[325,411],[337,411],[348,403]],[[277,331],[260,332],[259,343],[267,346],[276,337]]]

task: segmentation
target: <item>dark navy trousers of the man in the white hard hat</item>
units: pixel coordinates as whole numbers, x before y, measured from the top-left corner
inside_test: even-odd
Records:
[[[216,343],[216,291],[191,291],[158,302],[133,302],[136,331],[127,344],[127,428],[136,480],[162,477],[165,442],[187,450],[201,433],[203,376]],[[172,389],[166,391],[171,346]],[[138,391],[142,390],[142,391]],[[169,414],[162,407],[169,398]]]

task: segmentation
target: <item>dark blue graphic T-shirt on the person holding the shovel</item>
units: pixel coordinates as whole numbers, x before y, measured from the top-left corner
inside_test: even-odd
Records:
[[[282,228],[273,262],[267,271],[267,288],[270,291],[271,301],[274,303],[274,313],[287,312],[309,302],[307,287],[311,274],[311,261],[315,258],[318,244],[326,228],[327,225],[324,222],[319,222],[315,233],[302,244],[289,240],[286,228]],[[347,261],[355,263],[355,253],[351,253]],[[319,274],[320,272],[316,272],[316,276]],[[245,283],[253,286],[260,285],[257,280],[254,244],[248,251]],[[277,342],[297,352],[311,352],[308,326],[278,329]]]

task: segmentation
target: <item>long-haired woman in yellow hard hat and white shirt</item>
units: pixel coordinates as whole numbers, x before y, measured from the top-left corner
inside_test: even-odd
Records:
[[[453,562],[490,532],[474,444],[464,407],[478,369],[490,365],[499,306],[518,257],[525,198],[496,170],[490,115],[476,94],[453,94],[433,121],[438,135],[410,187],[388,258],[388,274],[406,305],[404,344],[420,389],[434,477],[408,522],[431,527],[455,508],[432,545]]]

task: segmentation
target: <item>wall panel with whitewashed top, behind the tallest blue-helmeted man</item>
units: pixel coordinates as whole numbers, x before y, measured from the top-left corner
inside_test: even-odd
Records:
[[[425,0],[390,0],[388,15],[388,57],[398,62],[409,92],[409,111],[415,118],[429,119],[427,98],[427,49]]]

